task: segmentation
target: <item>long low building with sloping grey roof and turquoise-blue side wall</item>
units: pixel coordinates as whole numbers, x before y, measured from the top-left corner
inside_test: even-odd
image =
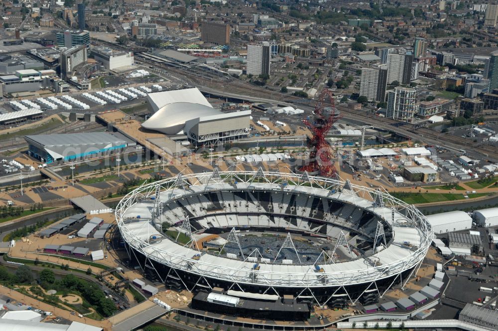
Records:
[[[24,136],[30,156],[50,164],[121,152],[131,141],[105,132]]]

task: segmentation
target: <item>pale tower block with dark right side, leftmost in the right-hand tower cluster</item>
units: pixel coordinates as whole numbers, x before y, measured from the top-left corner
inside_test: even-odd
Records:
[[[387,68],[385,65],[362,68],[360,95],[369,101],[384,101],[387,83]]]

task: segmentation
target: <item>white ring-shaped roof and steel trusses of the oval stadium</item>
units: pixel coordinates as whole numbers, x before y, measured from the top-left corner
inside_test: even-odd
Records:
[[[303,192],[303,190],[308,190],[309,194],[313,194],[312,192],[320,192],[322,196],[325,195],[325,197],[330,199],[342,199],[342,201],[346,201],[349,204],[362,205],[364,208],[368,208],[393,227],[393,236],[396,235],[397,231],[401,233],[403,229],[409,228],[413,230],[413,233],[416,233],[416,236],[419,238],[419,242],[416,243],[415,247],[410,249],[409,255],[402,256],[399,259],[393,259],[393,261],[389,263],[377,263],[378,258],[376,256],[371,256],[370,258],[365,257],[364,259],[369,263],[366,262],[363,268],[337,268],[341,264],[348,262],[333,263],[333,259],[324,253],[320,254],[316,263],[323,259],[325,268],[337,267],[331,271],[326,270],[319,275],[315,273],[313,265],[285,266],[291,269],[295,268],[295,270],[290,270],[285,268],[282,269],[282,265],[260,263],[260,265],[264,265],[265,267],[261,268],[261,270],[253,270],[253,263],[247,261],[251,256],[257,256],[259,252],[253,251],[251,254],[244,257],[244,261],[240,261],[221,256],[215,257],[210,254],[203,254],[198,250],[187,248],[175,250],[164,249],[163,247],[155,246],[154,242],[147,240],[148,237],[143,239],[143,237],[137,234],[138,232],[136,229],[139,227],[141,231],[145,231],[147,236],[149,235],[149,232],[154,231],[156,235],[161,235],[155,230],[153,220],[147,219],[147,217],[144,216],[142,216],[141,219],[136,219],[136,216],[127,215],[128,212],[131,212],[135,204],[147,202],[153,205],[151,197],[156,194],[157,187],[159,187],[163,198],[169,196],[168,199],[173,199],[188,195],[196,186],[199,186],[197,187],[197,192],[202,193],[203,191],[220,190],[220,185],[225,185],[223,190],[230,190],[231,188],[248,191],[264,189],[266,191],[270,190],[275,192],[295,191],[296,194]],[[365,207],[367,204],[369,207]],[[382,296],[387,290],[381,293],[375,282],[395,276],[391,286],[399,278],[404,287],[409,278],[414,273],[416,274],[420,268],[423,258],[433,239],[433,231],[426,217],[413,205],[408,205],[401,200],[392,197],[386,191],[359,186],[349,181],[345,182],[338,179],[310,176],[306,172],[303,174],[267,172],[263,171],[261,168],[255,171],[219,171],[218,169],[215,169],[213,172],[179,174],[176,177],[162,179],[153,183],[144,182],[141,186],[126,194],[120,201],[116,208],[116,219],[121,234],[127,243],[126,249],[130,257],[131,254],[134,254],[136,258],[136,250],[145,257],[143,267],[145,267],[148,260],[170,267],[169,272],[165,277],[164,274],[161,275],[161,273],[156,270],[161,281],[165,281],[171,275],[171,277],[179,279],[185,288],[193,290],[192,287],[189,288],[185,284],[177,272],[177,270],[182,270],[190,275],[197,275],[199,277],[197,283],[204,280],[210,288],[212,288],[212,286],[207,278],[228,281],[232,284],[231,288],[236,286],[242,291],[242,284],[258,285],[266,288],[265,293],[266,291],[273,290],[277,294],[278,292],[275,288],[278,287],[303,288],[303,293],[306,290],[309,290],[314,297],[312,291],[314,288],[329,286],[337,288],[332,296],[343,289],[351,302],[356,302],[361,297],[354,298],[348,294],[346,286],[351,284],[368,284],[364,293],[366,291],[370,292],[375,290],[378,292],[379,296]],[[131,225],[133,225],[133,227]],[[144,230],[144,228],[146,229]],[[377,243],[380,242],[380,238],[378,237],[384,236],[383,231],[383,227],[381,230],[377,228],[375,237]],[[163,238],[162,241],[164,242],[165,238]],[[171,244],[182,248],[181,245],[177,245],[173,242],[171,242]],[[395,247],[402,246],[398,243],[392,245]],[[389,247],[390,246],[391,245],[389,245]],[[380,250],[380,253],[382,253],[382,251],[387,251],[387,248]],[[224,264],[218,264],[219,261],[216,259],[220,259],[222,262],[224,261]],[[327,260],[332,263],[327,263]],[[137,258],[137,261],[140,260]],[[149,265],[150,264],[153,266],[153,263],[149,263]],[[142,267],[142,265],[140,265],[140,267]],[[402,272],[410,269],[411,272],[409,276],[402,279]],[[257,275],[257,277],[254,277],[254,275]],[[318,304],[324,305],[332,296],[325,302],[319,302],[316,298],[315,300]]]

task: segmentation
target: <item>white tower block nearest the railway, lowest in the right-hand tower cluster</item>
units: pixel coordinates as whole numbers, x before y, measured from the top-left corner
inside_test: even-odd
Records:
[[[398,86],[387,92],[388,118],[411,123],[416,111],[414,89]]]

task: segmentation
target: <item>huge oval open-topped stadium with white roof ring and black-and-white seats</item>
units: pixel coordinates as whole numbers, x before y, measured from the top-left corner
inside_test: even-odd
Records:
[[[373,303],[404,285],[434,236],[417,208],[385,191],[261,168],[144,184],[120,201],[116,220],[130,259],[168,287],[293,295],[329,307]],[[212,234],[223,247],[201,249]],[[306,248],[315,239],[328,247]],[[268,251],[270,240],[278,252]]]

